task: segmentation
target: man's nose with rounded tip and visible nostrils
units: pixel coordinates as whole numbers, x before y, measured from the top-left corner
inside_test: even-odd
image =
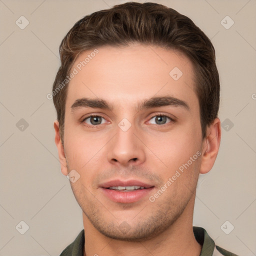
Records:
[[[116,127],[116,134],[107,143],[107,160],[111,164],[128,166],[145,161],[145,146],[134,132],[133,125],[126,131]]]

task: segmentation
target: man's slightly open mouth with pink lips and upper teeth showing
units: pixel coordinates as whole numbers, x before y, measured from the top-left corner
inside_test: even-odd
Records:
[[[148,195],[154,185],[139,180],[111,180],[100,184],[99,188],[111,201],[131,203],[139,201]]]

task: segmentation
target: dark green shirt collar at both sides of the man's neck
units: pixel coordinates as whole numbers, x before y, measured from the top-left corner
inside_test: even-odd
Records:
[[[237,256],[215,245],[214,241],[202,227],[193,226],[194,237],[202,246],[199,256]],[[80,231],[75,240],[69,244],[59,256],[83,256],[84,229]]]

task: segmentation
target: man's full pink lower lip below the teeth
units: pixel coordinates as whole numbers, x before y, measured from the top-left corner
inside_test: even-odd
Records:
[[[112,201],[129,203],[129,202],[136,202],[141,198],[145,197],[153,189],[153,187],[137,189],[134,191],[117,191],[117,190],[108,189],[104,187],[100,187],[100,189]]]

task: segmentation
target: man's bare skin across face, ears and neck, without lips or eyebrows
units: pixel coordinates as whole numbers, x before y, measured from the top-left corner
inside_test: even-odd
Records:
[[[73,67],[91,51],[81,53]],[[98,51],[68,84],[64,147],[54,123],[61,171],[67,175],[74,169],[80,175],[70,185],[83,211],[86,255],[199,255],[192,233],[195,189],[199,173],[215,161],[220,121],[216,118],[202,139],[192,64],[180,52],[156,46],[104,46]],[[169,75],[174,67],[182,71],[178,80]],[[138,108],[145,100],[165,96],[187,107]],[[71,107],[81,98],[103,99],[112,108]],[[90,114],[101,121],[93,122]],[[131,125],[126,131],[118,126],[123,118]],[[200,156],[150,201],[198,151]],[[153,188],[135,202],[116,202],[100,187],[114,179],[135,179]]]

